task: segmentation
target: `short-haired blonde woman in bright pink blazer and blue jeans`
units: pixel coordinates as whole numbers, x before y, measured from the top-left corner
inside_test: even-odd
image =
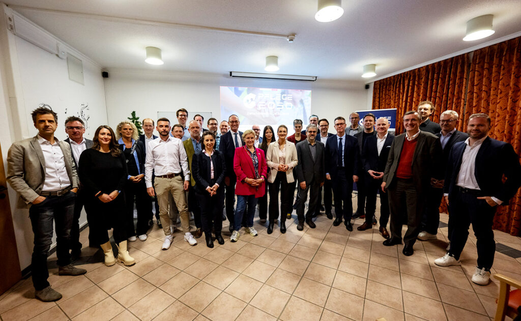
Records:
[[[255,132],[251,129],[242,134],[244,146],[235,149],[233,157],[233,170],[237,175],[237,185],[235,185],[235,195],[237,195],[237,208],[235,208],[235,218],[233,232],[230,237],[231,242],[239,239],[242,217],[246,209],[246,233],[257,236],[257,231],[253,227],[253,216],[257,206],[258,197],[262,197],[266,192],[266,158],[264,151],[255,148]]]

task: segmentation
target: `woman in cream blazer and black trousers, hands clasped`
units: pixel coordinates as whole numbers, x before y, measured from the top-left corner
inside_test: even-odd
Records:
[[[286,233],[286,214],[291,213],[293,204],[293,168],[299,163],[295,144],[286,140],[288,127],[280,125],[277,129],[279,139],[268,146],[266,163],[271,169],[269,183],[269,225],[268,234],[273,232],[275,220],[279,217],[280,189],[280,232]],[[293,188],[292,188],[293,187]]]

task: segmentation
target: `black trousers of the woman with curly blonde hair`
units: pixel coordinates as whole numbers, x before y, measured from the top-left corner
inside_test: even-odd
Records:
[[[138,223],[134,229],[134,199],[138,210]],[[148,221],[152,216],[150,196],[146,192],[145,180],[139,182],[128,181],[125,185],[125,200],[127,208],[127,236],[143,235],[148,231]]]

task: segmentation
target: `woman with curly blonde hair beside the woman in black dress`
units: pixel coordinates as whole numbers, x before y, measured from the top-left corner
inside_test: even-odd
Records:
[[[134,242],[136,234],[141,241],[146,240],[148,221],[152,217],[152,201],[146,192],[145,184],[145,146],[139,140],[138,129],[128,120],[116,127],[119,149],[127,162],[128,180],[125,184],[125,200],[127,205],[126,225],[127,238]],[[138,209],[137,231],[134,228],[134,197]]]

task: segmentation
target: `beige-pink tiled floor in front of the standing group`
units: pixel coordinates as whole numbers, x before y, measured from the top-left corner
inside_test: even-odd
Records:
[[[353,199],[356,204],[356,200]],[[293,215],[295,218],[295,215]],[[446,215],[441,219],[446,223]],[[0,296],[0,318],[8,320],[491,320],[498,283],[470,282],[476,264],[475,239],[469,238],[460,267],[438,267],[445,253],[446,230],[438,240],[418,241],[413,256],[402,246],[386,248],[375,228],[353,232],[332,226],[324,215],[317,228],[268,235],[258,224],[257,237],[242,233],[209,249],[191,247],[175,234],[168,251],[160,250],[157,226],[145,242],[130,243],[138,262],[106,267],[103,254],[84,248],[78,266],[84,276],[58,276],[49,282],[63,294],[57,302],[34,299],[31,279]],[[223,230],[227,230],[224,228]],[[86,244],[88,229],[81,233]],[[229,234],[226,233],[228,236]],[[521,250],[521,238],[495,231],[499,243]],[[49,266],[56,260],[49,257]],[[493,273],[521,280],[521,258],[496,253]]]

